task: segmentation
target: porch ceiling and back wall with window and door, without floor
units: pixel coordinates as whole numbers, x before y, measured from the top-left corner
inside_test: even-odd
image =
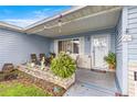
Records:
[[[80,68],[109,71],[104,56],[116,53],[120,11],[120,7],[77,7],[30,25],[25,32],[50,37],[49,52],[70,53],[74,59],[78,56]]]

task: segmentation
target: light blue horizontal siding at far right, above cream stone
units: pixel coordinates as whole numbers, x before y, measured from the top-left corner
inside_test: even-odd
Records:
[[[128,60],[137,60],[137,7],[128,7],[128,30],[131,42],[128,42]]]

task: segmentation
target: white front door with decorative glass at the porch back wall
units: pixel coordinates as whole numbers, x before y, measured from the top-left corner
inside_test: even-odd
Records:
[[[107,64],[104,61],[104,56],[108,54],[108,35],[92,36],[93,68],[107,69]]]

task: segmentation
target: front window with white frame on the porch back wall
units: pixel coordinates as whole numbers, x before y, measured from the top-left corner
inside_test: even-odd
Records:
[[[63,39],[59,41],[59,53],[65,52],[70,54],[80,54],[80,39]]]

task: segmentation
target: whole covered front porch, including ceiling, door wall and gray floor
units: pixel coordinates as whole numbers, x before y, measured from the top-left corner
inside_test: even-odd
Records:
[[[68,53],[77,61],[76,83],[65,95],[115,95],[119,91],[116,80],[120,70],[109,70],[104,57],[118,50],[120,12],[120,7],[81,7],[25,31],[49,37],[50,52]]]

